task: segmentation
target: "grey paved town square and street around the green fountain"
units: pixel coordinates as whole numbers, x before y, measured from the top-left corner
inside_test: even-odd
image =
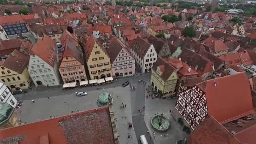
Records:
[[[77,87],[76,89],[72,88],[65,91],[61,87],[42,87],[38,88],[37,91],[29,90],[27,94],[15,95],[15,97],[19,97],[24,101],[22,107],[18,109],[18,115],[21,117],[22,122],[35,122],[49,119],[50,116],[69,114],[71,110],[77,111],[97,108],[97,97],[104,91],[109,92],[114,98],[113,109],[118,129],[119,144],[140,143],[140,135],[146,135],[149,144],[176,144],[176,140],[185,138],[185,132],[182,132],[182,128],[177,122],[174,122],[169,112],[173,108],[175,100],[146,99],[146,86],[143,83],[138,83],[139,79],[144,79],[149,83],[150,73],[118,79],[118,82],[115,81],[104,86],[99,86],[100,90],[96,90],[96,86],[89,86],[88,88]],[[129,86],[122,88],[122,83],[126,81],[129,81],[137,89],[131,91]],[[78,97],[74,95],[76,91],[87,91],[88,95]],[[35,100],[34,104],[32,99]],[[127,105],[124,109],[120,108],[122,102]],[[146,110],[140,113],[138,109],[142,110],[144,105],[146,106]],[[150,120],[157,112],[160,114],[163,113],[164,116],[170,119],[170,128],[167,132],[155,131],[156,138],[153,138],[152,132],[154,130],[150,124]],[[133,128],[128,128],[128,122],[133,123]],[[147,134],[148,130],[150,134]],[[128,133],[131,134],[131,138],[128,138]],[[152,138],[150,139],[150,137]]]

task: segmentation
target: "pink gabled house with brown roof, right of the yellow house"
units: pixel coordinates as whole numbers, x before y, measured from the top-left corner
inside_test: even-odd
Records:
[[[110,57],[112,76],[132,76],[135,73],[135,59],[131,56],[129,50],[116,37],[109,42],[109,48],[106,50]]]

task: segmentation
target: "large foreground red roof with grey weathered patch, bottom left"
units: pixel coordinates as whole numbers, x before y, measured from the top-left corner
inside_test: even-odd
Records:
[[[109,107],[2,129],[6,144],[115,144]]]

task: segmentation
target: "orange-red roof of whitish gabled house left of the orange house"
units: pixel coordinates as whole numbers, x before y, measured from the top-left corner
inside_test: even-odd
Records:
[[[42,58],[49,65],[54,67],[57,52],[56,52],[56,43],[47,35],[43,35],[42,39],[38,39],[36,44],[31,49],[31,55],[37,55]]]

